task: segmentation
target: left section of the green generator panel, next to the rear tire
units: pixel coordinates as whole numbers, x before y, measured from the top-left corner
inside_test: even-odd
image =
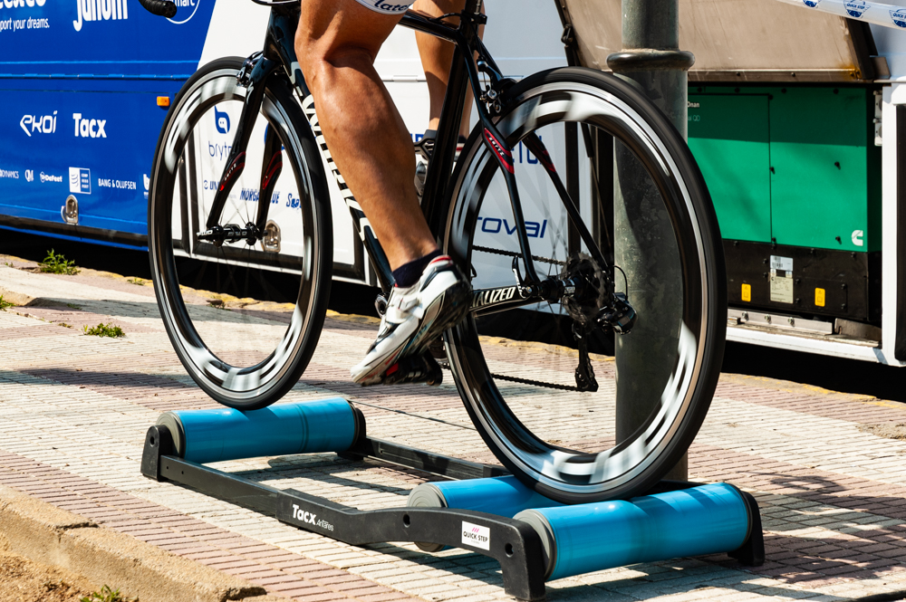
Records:
[[[767,94],[689,91],[689,148],[708,182],[720,234],[771,242]]]

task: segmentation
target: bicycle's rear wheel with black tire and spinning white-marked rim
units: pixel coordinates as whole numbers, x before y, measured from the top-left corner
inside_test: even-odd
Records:
[[[479,124],[454,174],[444,240],[446,252],[471,269],[475,291],[470,317],[445,335],[450,368],[491,451],[536,491],[567,503],[631,496],[660,480],[686,452],[717,385],[726,284],[708,189],[670,121],[641,91],[615,77],[575,68],[538,73],[507,91],[502,104],[496,127],[514,149],[536,272],[542,279],[581,275],[596,288],[582,298],[567,291],[558,301],[519,306],[512,271],[520,255],[516,225]],[[577,234],[543,168],[545,159],[528,151],[530,133],[540,137],[558,173],[570,179],[570,169],[577,170],[571,187],[592,241]],[[628,282],[619,270],[595,262],[591,249],[597,246],[611,261],[614,253],[621,257],[612,208],[620,204],[609,204],[612,180],[603,178],[612,160],[604,166],[591,160],[591,148],[608,144],[618,164],[643,174],[640,181],[621,181],[621,189],[646,188],[642,210],[661,217],[658,232],[637,240],[642,256],[646,245],[652,253],[648,263],[633,266]],[[567,165],[571,147],[578,165]],[[618,414],[625,410],[616,404],[616,377],[624,383],[633,378],[631,369],[615,374],[612,356],[619,357],[622,346],[614,349],[612,333],[604,330],[579,330],[589,340],[587,366],[599,379],[593,390],[575,374],[583,361],[573,327],[601,309],[607,276],[630,302],[651,294],[642,285],[646,268],[675,274],[679,291],[659,301],[659,311],[673,320],[665,333],[669,343],[647,358],[665,365],[654,383],[663,393],[634,431],[618,433]],[[638,320],[636,330],[646,315]],[[633,336],[641,335],[625,335]]]

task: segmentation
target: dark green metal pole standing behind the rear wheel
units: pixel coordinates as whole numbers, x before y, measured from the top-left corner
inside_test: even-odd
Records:
[[[679,51],[679,0],[622,0],[622,46],[607,57],[608,66],[639,84],[685,138],[686,71],[694,57]],[[682,283],[660,193],[620,143],[614,164],[614,262],[626,272],[629,299],[639,316],[630,334],[616,338],[616,436],[621,442],[651,415],[675,366]],[[622,278],[617,276],[617,282],[622,287]],[[666,478],[687,477],[683,455]]]

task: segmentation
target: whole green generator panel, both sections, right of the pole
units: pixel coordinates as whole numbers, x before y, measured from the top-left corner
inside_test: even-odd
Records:
[[[722,236],[880,251],[873,101],[867,87],[690,86],[689,148]]]

